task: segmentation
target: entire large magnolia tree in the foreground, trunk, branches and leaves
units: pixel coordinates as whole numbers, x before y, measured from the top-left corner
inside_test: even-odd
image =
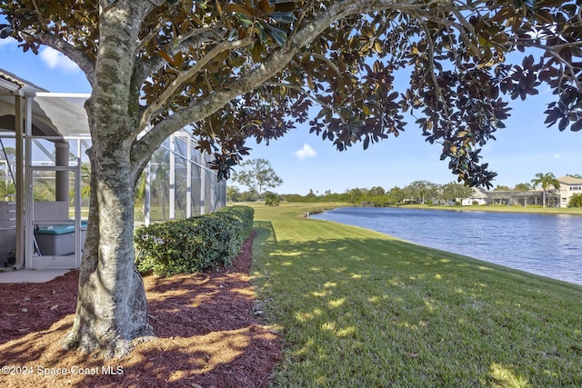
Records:
[[[0,14],[0,37],[53,47],[93,87],[89,226],[65,344],[107,356],[152,335],[134,264],[135,183],[180,128],[191,125],[227,177],[249,138],[303,123],[338,150],[366,148],[403,131],[408,112],[472,185],[495,176],[479,149],[503,128],[508,100],[549,88],[547,124],[582,128],[574,0],[8,0]],[[396,90],[396,77],[409,84]]]

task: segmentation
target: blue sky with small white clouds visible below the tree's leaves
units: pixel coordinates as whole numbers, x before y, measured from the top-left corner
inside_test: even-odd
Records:
[[[39,55],[22,53],[14,41],[0,39],[0,68],[51,92],[90,93],[85,75],[64,55],[43,47]],[[400,82],[405,82],[406,79]],[[482,155],[497,172],[494,185],[513,187],[529,182],[537,173],[582,174],[582,134],[563,132],[544,124],[552,95],[542,92],[527,101],[513,101],[507,128],[497,141],[488,143]],[[440,161],[440,145],[427,144],[421,131],[408,120],[406,132],[372,144],[364,151],[356,144],[337,152],[331,142],[298,126],[282,139],[253,148],[250,158],[267,159],[283,179],[275,189],[280,194],[343,193],[355,187],[382,186],[386,190],[416,180],[446,184],[456,180]]]

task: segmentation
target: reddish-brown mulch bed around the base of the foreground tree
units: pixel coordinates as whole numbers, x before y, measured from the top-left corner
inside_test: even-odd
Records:
[[[146,276],[157,338],[118,360],[60,346],[73,324],[77,272],[45,284],[0,284],[0,366],[9,366],[0,386],[267,386],[281,353],[276,333],[256,316],[258,301],[249,284],[255,236],[229,268]]]

